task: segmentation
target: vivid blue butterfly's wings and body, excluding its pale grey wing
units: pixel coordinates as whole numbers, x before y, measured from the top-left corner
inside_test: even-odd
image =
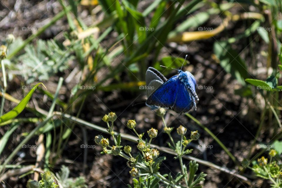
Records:
[[[148,70],[149,69],[152,71],[151,67],[148,68]],[[196,109],[195,100],[199,100],[195,92],[197,85],[196,79],[189,71],[177,71],[178,74],[172,76],[168,80],[164,81],[161,79],[161,81],[164,82],[150,94],[146,101],[146,105],[171,108],[179,114],[186,113],[193,107]],[[160,75],[162,74],[160,73]],[[162,78],[160,75],[158,75],[158,77]],[[158,79],[155,79],[155,81],[152,80],[154,84],[159,83],[156,80]]]

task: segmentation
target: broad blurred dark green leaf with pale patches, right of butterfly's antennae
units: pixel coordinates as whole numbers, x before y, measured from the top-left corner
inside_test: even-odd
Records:
[[[245,85],[245,79],[248,78],[246,63],[239,54],[231,48],[231,45],[226,42],[215,42],[214,53],[220,60],[220,65],[227,73],[230,73],[239,83]]]

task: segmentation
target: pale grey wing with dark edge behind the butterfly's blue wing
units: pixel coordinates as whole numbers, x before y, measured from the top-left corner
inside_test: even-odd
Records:
[[[146,72],[146,90],[147,97],[149,97],[157,88],[159,88],[167,78],[162,75],[157,69],[149,67]]]

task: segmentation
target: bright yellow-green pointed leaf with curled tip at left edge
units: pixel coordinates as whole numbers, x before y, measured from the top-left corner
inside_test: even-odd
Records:
[[[33,92],[36,90],[37,86],[39,84],[42,84],[44,87],[45,85],[43,83],[38,83],[36,84],[27,94],[26,96],[20,101],[20,103],[18,105],[16,105],[15,108],[13,108],[11,111],[3,114],[1,117],[0,117],[0,123],[2,122],[5,122],[5,121],[8,121],[8,120],[11,120],[15,117],[17,117],[19,115],[19,113],[21,113],[24,108],[26,107],[28,101],[30,100]],[[45,87],[46,88],[46,87]]]

